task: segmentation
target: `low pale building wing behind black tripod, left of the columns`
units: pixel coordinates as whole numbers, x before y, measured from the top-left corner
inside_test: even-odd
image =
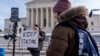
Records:
[[[17,33],[21,33],[26,28],[26,17],[20,18],[17,27]],[[12,34],[13,33],[13,22],[10,19],[5,19],[4,33]]]

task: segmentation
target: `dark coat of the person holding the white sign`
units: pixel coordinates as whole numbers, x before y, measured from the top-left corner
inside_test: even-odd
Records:
[[[45,39],[45,32],[40,31],[39,35],[41,38],[39,38],[39,47],[38,48],[28,48],[28,50],[33,50],[33,51],[41,51],[43,47],[43,40]]]

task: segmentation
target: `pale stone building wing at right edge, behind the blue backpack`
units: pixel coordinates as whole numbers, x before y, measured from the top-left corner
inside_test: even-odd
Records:
[[[93,14],[91,18],[88,19],[88,29],[90,32],[100,32],[100,15]]]

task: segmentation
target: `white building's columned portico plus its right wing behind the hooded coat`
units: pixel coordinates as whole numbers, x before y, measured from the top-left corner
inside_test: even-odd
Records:
[[[26,23],[29,28],[33,28],[34,24],[38,24],[43,31],[51,33],[55,25],[57,24],[53,15],[53,7],[58,0],[32,0],[26,3],[27,7],[27,19]],[[88,18],[89,31],[100,32],[100,15],[93,14],[91,18]]]

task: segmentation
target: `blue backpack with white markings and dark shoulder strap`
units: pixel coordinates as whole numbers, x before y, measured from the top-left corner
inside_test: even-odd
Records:
[[[100,56],[96,42],[87,30],[68,21],[61,22],[58,25],[75,30],[78,37],[78,56]]]

